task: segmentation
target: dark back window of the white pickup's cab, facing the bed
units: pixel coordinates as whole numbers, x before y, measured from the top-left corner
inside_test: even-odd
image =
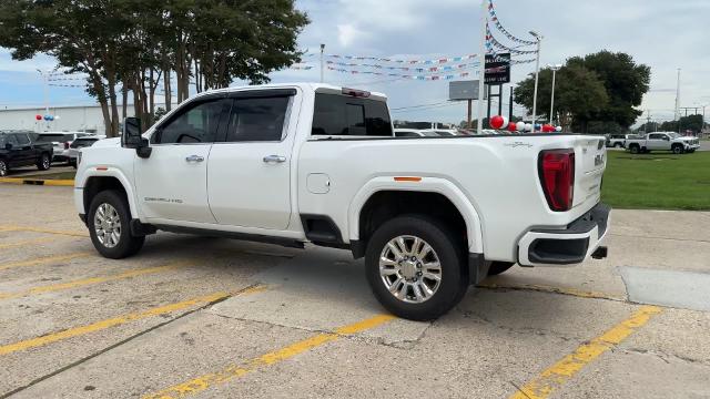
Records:
[[[311,134],[392,136],[387,105],[383,101],[317,93]]]

